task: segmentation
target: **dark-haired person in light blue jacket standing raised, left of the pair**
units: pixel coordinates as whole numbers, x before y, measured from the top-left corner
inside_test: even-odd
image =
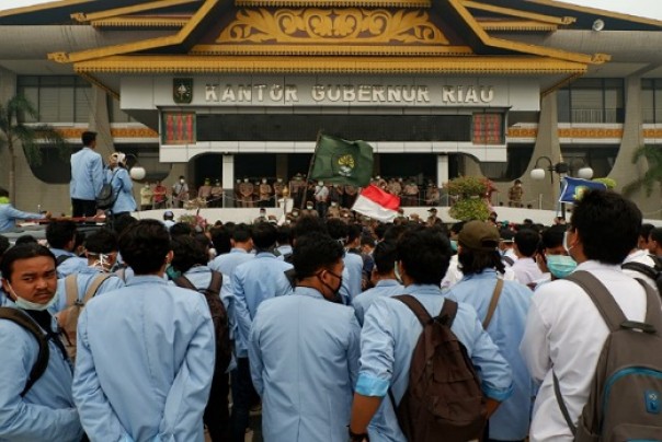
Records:
[[[103,160],[94,151],[96,132],[84,131],[83,148],[71,155],[71,182],[69,195],[73,218],[96,214],[96,196],[103,186]]]

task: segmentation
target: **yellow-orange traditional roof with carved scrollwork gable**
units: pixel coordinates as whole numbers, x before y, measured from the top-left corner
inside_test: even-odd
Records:
[[[596,10],[550,0],[62,0],[4,11],[0,25],[52,9],[54,20],[66,10],[69,23],[98,32],[136,31],[130,43],[49,54],[100,85],[109,73],[159,72],[549,73],[561,83],[609,60],[507,37],[593,23]],[[601,12],[620,25],[662,25]],[[150,27],[166,35],[140,37]]]

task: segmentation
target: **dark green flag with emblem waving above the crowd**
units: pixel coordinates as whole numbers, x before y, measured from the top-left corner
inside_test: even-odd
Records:
[[[322,135],[315,151],[310,179],[365,187],[373,175],[373,148],[365,141],[347,141]]]

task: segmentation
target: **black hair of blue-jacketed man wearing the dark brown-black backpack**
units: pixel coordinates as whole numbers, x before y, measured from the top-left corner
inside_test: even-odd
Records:
[[[412,229],[398,241],[398,259],[414,283],[440,286],[453,251],[448,239],[432,229]]]

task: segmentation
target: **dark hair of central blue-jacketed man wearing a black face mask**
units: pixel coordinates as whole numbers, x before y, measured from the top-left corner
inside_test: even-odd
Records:
[[[343,246],[324,233],[310,232],[297,237],[292,255],[297,278],[308,278],[320,269],[333,266],[344,253]]]

